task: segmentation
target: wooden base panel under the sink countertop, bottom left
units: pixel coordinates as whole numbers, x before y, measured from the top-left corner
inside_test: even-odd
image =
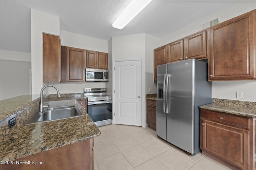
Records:
[[[94,138],[19,158],[15,164],[0,164],[0,170],[92,170],[92,147]]]

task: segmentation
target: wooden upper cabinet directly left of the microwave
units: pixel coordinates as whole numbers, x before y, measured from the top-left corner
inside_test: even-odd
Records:
[[[62,46],[62,82],[84,82],[85,50]]]

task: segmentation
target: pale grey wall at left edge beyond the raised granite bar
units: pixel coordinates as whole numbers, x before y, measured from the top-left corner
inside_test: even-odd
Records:
[[[30,94],[30,53],[0,50],[0,100]]]

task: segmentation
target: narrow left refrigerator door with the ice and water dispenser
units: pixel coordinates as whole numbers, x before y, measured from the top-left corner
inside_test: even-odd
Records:
[[[166,64],[157,66],[157,101],[156,101],[156,135],[166,140],[166,113],[164,113],[164,76],[166,74]]]

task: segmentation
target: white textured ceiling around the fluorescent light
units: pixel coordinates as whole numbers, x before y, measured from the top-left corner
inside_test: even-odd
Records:
[[[108,40],[147,33],[163,37],[236,2],[254,0],[152,0],[126,27],[112,23],[130,0],[0,0],[0,49],[31,52],[30,9],[60,17],[60,29]]]

